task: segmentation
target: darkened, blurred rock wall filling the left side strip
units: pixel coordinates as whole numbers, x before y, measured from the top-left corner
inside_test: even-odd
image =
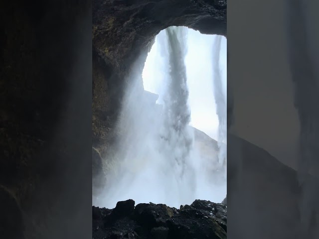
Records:
[[[75,217],[74,207],[84,198],[71,205],[72,212],[64,208],[91,187],[83,182],[91,180],[84,176],[90,147],[82,161],[84,144],[91,144],[85,136],[91,135],[91,4],[0,2],[0,188],[16,203],[6,204],[0,192],[0,204],[7,206],[1,205],[0,217],[16,217],[15,230],[21,231],[23,212],[33,238],[72,235],[74,225],[67,229],[62,222]]]

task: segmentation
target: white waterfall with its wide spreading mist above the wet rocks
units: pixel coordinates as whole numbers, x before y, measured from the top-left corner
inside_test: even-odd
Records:
[[[131,198],[177,208],[195,199],[224,199],[226,181],[214,182],[213,162],[194,149],[189,126],[188,31],[170,27],[156,39],[152,50],[160,60],[150,77],[159,84],[158,95],[141,91],[140,78],[131,79],[116,130],[122,136],[105,160],[108,187],[97,206],[114,208],[118,201]]]

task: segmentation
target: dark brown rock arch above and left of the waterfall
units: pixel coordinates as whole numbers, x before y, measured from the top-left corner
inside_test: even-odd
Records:
[[[141,79],[155,36],[172,26],[226,36],[226,0],[93,1],[93,167],[119,132],[115,121],[126,84]],[[96,156],[96,157],[95,157]]]

